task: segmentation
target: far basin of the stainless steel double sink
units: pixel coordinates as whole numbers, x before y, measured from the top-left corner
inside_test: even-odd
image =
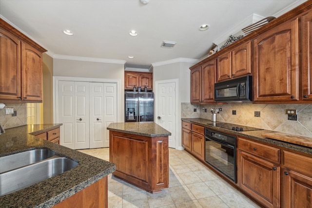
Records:
[[[51,150],[37,149],[0,157],[0,173],[30,165],[54,155],[55,152]]]

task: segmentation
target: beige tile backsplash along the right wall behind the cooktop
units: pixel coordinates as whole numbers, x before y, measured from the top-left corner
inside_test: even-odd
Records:
[[[194,108],[197,112],[194,112]],[[207,109],[205,113],[204,109]],[[250,102],[223,105],[192,105],[181,103],[181,118],[211,120],[210,109],[222,108],[217,121],[251,126],[277,132],[312,137],[312,104],[252,104]],[[297,120],[289,120],[286,109],[297,110]],[[233,114],[236,111],[236,114]]]

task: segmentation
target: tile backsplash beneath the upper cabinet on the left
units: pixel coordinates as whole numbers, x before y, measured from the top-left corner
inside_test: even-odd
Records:
[[[0,109],[0,124],[4,129],[22,126],[27,124],[26,103],[6,103],[5,108],[14,108],[17,112],[16,116],[5,114],[5,108]]]

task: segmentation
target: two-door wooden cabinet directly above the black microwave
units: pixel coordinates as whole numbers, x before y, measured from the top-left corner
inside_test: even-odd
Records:
[[[217,58],[217,81],[251,74],[251,41],[242,43]]]

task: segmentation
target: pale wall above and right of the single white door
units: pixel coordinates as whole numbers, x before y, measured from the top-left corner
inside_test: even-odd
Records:
[[[176,62],[170,64],[164,64],[160,66],[153,66],[153,86],[156,87],[155,82],[167,79],[178,79],[178,106],[179,109],[176,111],[179,121],[179,131],[177,135],[178,146],[182,147],[182,121],[181,121],[181,103],[190,102],[191,96],[191,73],[190,67],[195,63],[189,62]],[[176,147],[178,148],[178,147]]]

